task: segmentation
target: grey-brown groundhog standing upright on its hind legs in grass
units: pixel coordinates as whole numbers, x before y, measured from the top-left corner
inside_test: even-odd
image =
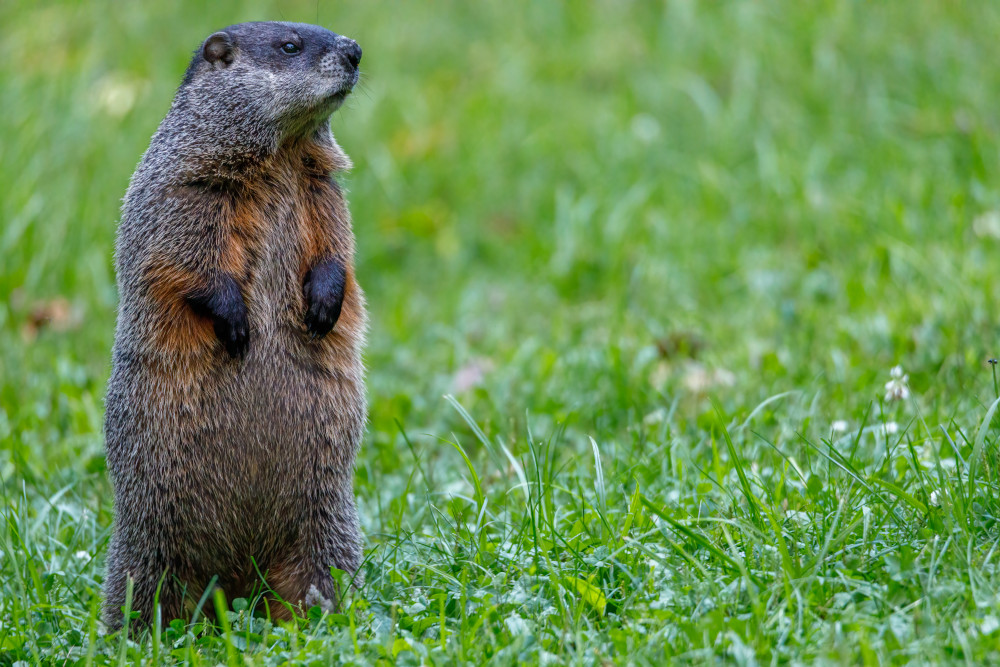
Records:
[[[143,624],[212,587],[288,617],[336,605],[331,568],[361,564],[366,315],[329,126],[360,60],[312,25],[211,35],[132,176],[105,418],[111,630],[129,579]]]

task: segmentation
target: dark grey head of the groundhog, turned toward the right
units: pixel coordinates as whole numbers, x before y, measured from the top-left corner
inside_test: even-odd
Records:
[[[229,119],[253,120],[282,133],[325,121],[358,82],[361,47],[353,39],[305,23],[229,26],[195,52],[182,89]],[[223,102],[223,104],[219,104]]]

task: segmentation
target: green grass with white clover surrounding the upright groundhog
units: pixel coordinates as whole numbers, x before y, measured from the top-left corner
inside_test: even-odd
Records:
[[[232,22],[364,47],[366,583],[97,623],[118,200]],[[0,665],[1000,660],[1000,7],[0,6]],[[890,369],[909,396],[887,400]]]

